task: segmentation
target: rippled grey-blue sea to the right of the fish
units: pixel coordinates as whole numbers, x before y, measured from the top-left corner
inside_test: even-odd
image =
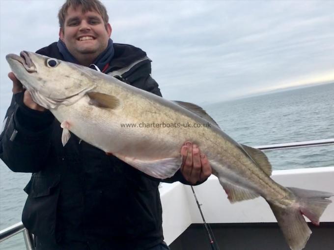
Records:
[[[206,106],[239,143],[261,146],[334,138],[334,84]],[[334,166],[334,145],[266,152],[273,169]]]

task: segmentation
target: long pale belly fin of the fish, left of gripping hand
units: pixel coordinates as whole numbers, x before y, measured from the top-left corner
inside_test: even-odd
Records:
[[[139,160],[128,156],[117,156],[121,160],[137,168],[141,172],[159,179],[172,177],[179,170],[182,158],[165,158],[158,160]]]

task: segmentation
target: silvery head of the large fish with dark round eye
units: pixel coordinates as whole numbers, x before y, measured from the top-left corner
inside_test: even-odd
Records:
[[[32,99],[45,108],[73,104],[96,87],[96,74],[81,65],[27,51],[8,54],[6,60]]]

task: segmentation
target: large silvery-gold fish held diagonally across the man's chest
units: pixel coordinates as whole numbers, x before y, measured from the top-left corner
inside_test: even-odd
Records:
[[[262,196],[270,205],[292,250],[301,250],[334,194],[285,188],[271,178],[259,150],[225,134],[195,104],[169,101],[88,67],[31,52],[6,56],[14,75],[63,128],[156,178],[172,176],[181,165],[185,141],[199,145],[230,202]],[[60,138],[59,138],[60,140]]]

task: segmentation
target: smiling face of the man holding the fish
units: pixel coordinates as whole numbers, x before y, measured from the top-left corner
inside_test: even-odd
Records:
[[[59,30],[60,39],[77,59],[84,55],[96,58],[107,48],[110,35],[110,24],[106,29],[100,14],[96,11],[83,13],[81,6],[68,8],[64,29]]]

